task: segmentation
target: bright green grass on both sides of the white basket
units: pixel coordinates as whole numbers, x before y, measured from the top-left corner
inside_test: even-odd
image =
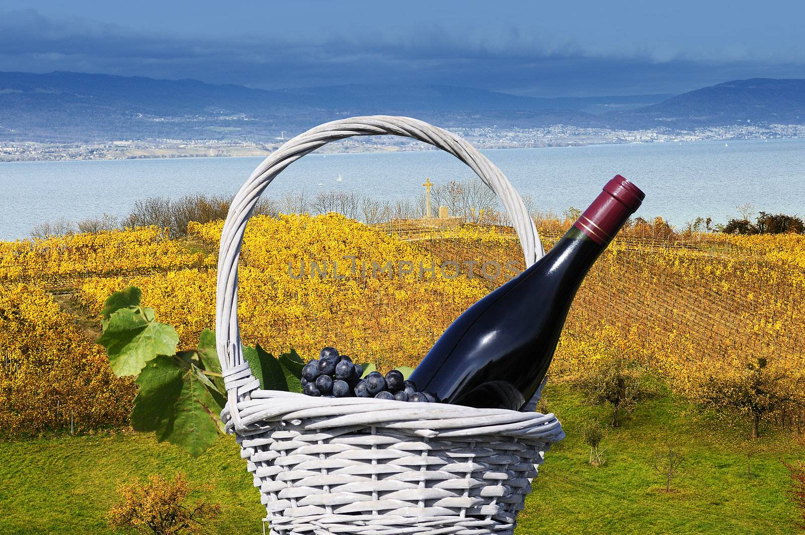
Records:
[[[712,421],[694,421],[689,407],[658,397],[609,431],[605,464],[590,467],[580,429],[593,418],[607,421],[608,413],[564,386],[547,388],[545,399],[568,438],[547,454],[518,534],[797,533],[780,459],[805,453],[790,434],[769,432],[756,442],[747,475],[743,429],[713,429]],[[686,462],[667,494],[650,461],[669,443]],[[204,496],[223,506],[210,533],[262,533],[265,509],[233,438],[221,437],[193,459],[138,433],[0,443],[0,533],[110,533],[104,516],[118,482],[176,471],[209,485]]]

